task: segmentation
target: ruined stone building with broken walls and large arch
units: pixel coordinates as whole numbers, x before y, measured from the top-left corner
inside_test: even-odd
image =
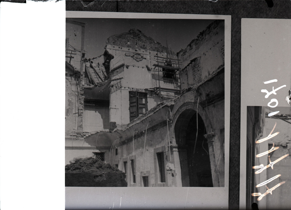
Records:
[[[94,156],[127,186],[224,186],[224,21],[176,54],[137,29],[93,59],[80,40],[66,51],[66,164]]]

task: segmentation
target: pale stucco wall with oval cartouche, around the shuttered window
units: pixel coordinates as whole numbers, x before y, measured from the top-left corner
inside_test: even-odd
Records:
[[[153,72],[157,62],[156,55],[166,56],[164,53],[157,53],[155,51],[145,49],[133,49],[132,47],[121,47],[118,45],[107,45],[106,50],[114,56],[110,61],[110,69],[112,79],[119,79],[118,81],[112,81],[111,85],[117,86],[116,83],[120,82],[120,87],[111,88],[110,95],[110,122],[116,122],[117,125],[123,125],[129,123],[129,91],[140,91],[148,93],[148,110],[155,107],[159,102],[166,99],[159,98],[157,92],[152,88],[169,88],[179,89],[179,84],[171,82],[165,82],[162,79],[162,69],[160,68],[160,76],[157,72]],[[143,56],[143,59],[137,61],[131,56],[139,53]],[[174,55],[174,58],[177,58]],[[149,70],[146,66],[150,67]],[[116,69],[118,68],[118,69]],[[157,70],[157,67],[156,67]],[[153,76],[154,75],[154,76]],[[160,78],[160,83],[159,83]],[[118,90],[116,90],[118,89]],[[176,97],[178,94],[173,92],[161,91],[162,95],[168,95],[167,97]]]

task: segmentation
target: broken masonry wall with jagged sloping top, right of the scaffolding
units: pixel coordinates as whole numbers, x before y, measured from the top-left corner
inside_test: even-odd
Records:
[[[200,83],[224,67],[224,20],[216,20],[178,52],[181,90]]]

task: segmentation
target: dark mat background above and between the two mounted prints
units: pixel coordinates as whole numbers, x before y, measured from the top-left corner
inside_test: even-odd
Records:
[[[93,1],[86,1],[88,5]],[[66,1],[66,10],[231,15],[229,209],[239,209],[241,19],[291,18],[290,0]],[[280,32],[278,32],[280,33]]]

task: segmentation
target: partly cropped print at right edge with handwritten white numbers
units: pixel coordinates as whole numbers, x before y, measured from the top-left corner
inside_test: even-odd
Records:
[[[242,19],[242,208],[291,207],[290,30],[290,19]]]

